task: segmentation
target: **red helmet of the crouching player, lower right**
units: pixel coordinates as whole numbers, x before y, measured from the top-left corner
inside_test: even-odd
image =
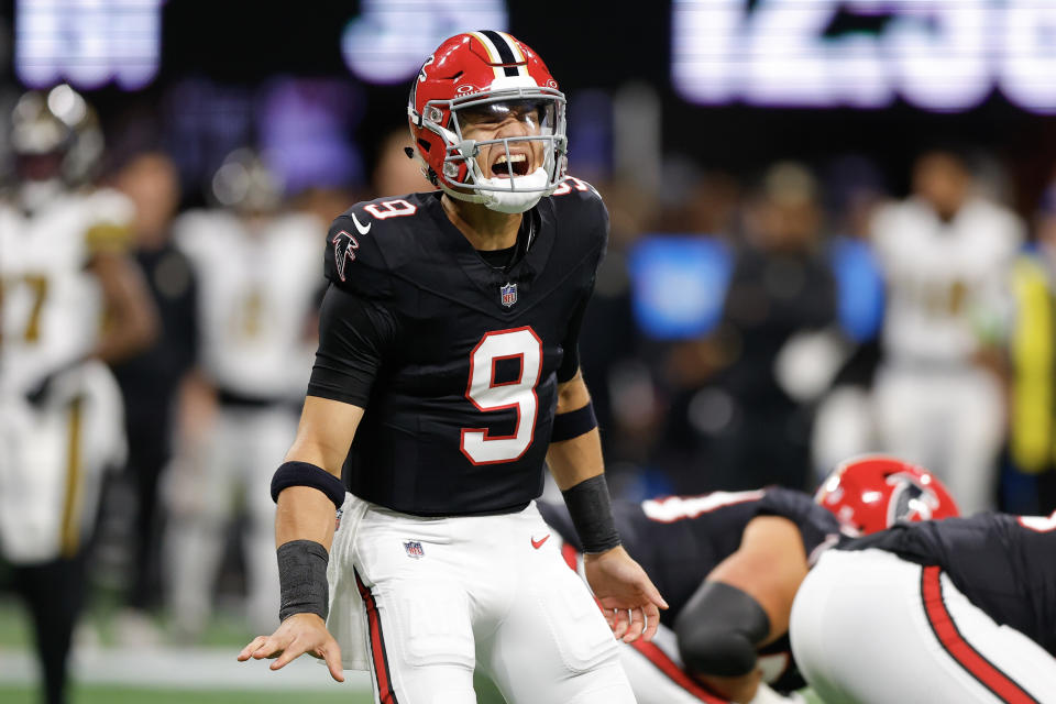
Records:
[[[851,458],[825,477],[814,501],[859,535],[897,522],[957,516],[957,504],[927,470],[882,454]]]

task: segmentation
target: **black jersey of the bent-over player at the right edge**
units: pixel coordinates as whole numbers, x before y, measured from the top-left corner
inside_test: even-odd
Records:
[[[869,548],[942,568],[972,604],[1056,656],[1056,514],[902,524],[840,546]]]

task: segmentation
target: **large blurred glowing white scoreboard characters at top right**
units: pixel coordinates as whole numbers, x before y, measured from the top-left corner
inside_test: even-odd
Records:
[[[685,100],[960,112],[994,90],[1056,112],[1053,0],[675,0]]]

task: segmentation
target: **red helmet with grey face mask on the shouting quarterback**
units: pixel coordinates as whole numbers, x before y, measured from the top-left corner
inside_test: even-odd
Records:
[[[452,198],[524,212],[564,178],[564,105],[558,82],[535,52],[505,32],[487,30],[440,44],[410,89],[407,114],[422,173],[433,185]],[[469,116],[491,113],[502,120],[515,111],[530,112],[522,130],[527,134],[481,141],[463,134]],[[541,143],[542,164],[521,173],[536,161],[532,143]],[[494,176],[476,160],[481,147],[490,145],[502,145],[486,167]]]

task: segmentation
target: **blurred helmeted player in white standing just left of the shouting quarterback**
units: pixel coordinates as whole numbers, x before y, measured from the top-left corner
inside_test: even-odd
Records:
[[[232,154],[213,179],[224,208],[175,224],[199,285],[200,372],[217,400],[201,452],[184,462],[173,509],[173,606],[194,638],[211,610],[224,537],[240,496],[254,628],[277,624],[271,468],[293,441],[315,351],[323,251],[315,218],[277,210],[280,184],[256,155]]]

